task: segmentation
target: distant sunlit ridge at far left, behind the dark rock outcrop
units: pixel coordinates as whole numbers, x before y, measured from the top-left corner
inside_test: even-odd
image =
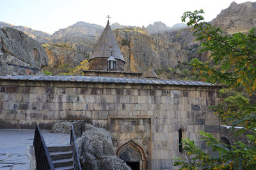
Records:
[[[45,42],[49,41],[49,39],[51,38],[51,34],[47,34],[46,32],[43,32],[43,31],[36,31],[29,27],[15,26],[15,25],[8,24],[5,22],[0,22],[0,28],[3,28],[3,27],[13,27],[19,31],[24,32],[25,34],[28,34],[29,37],[36,39],[36,41],[38,41],[40,43],[45,43]]]

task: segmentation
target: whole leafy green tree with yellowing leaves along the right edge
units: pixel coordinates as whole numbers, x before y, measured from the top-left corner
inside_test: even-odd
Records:
[[[191,66],[200,71],[205,81],[224,83],[227,88],[245,87],[248,94],[256,89],[256,31],[248,34],[236,33],[225,35],[218,27],[204,22],[203,10],[188,11],[182,16],[182,22],[189,18],[188,26],[192,26],[196,41],[201,42],[200,52],[211,52],[209,61],[203,63],[198,59],[191,60]],[[213,62],[213,63],[212,63]],[[213,138],[211,134],[201,132],[202,140],[217,155],[209,155],[195,145],[194,141],[183,140],[184,150],[189,159],[176,159],[174,166],[180,169],[255,169],[256,167],[256,107],[244,96],[236,94],[225,101],[225,106],[212,106],[221,118],[233,127],[241,125],[243,129],[237,133],[250,131],[248,140],[252,145],[234,143],[232,150]]]

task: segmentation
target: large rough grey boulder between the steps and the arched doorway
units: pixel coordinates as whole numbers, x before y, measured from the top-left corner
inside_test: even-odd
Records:
[[[85,131],[77,139],[77,148],[83,169],[131,169],[113,150],[110,133],[102,128],[85,124]]]

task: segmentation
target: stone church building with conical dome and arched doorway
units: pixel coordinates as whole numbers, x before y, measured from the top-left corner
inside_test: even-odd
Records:
[[[182,138],[199,131],[220,139],[220,120],[208,106],[220,85],[160,80],[124,71],[125,60],[108,24],[90,55],[85,76],[0,76],[0,128],[42,129],[65,120],[92,120],[111,133],[116,155],[133,169],[175,169],[186,157]]]

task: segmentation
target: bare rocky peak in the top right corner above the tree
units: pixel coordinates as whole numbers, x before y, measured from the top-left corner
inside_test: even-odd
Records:
[[[227,9],[222,10],[211,21],[211,24],[223,28],[229,34],[248,32],[253,27],[256,27],[256,2],[242,4],[233,2]]]

